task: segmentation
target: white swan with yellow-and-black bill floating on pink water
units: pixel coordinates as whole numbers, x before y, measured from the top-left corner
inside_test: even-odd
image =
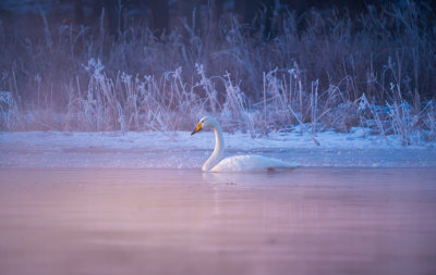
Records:
[[[225,157],[225,139],[219,123],[211,116],[199,120],[191,136],[195,133],[211,128],[215,132],[215,149],[209,159],[204,163],[202,170],[205,172],[249,172],[249,171],[274,171],[275,168],[293,168],[295,165],[277,159],[262,155],[235,155]]]

